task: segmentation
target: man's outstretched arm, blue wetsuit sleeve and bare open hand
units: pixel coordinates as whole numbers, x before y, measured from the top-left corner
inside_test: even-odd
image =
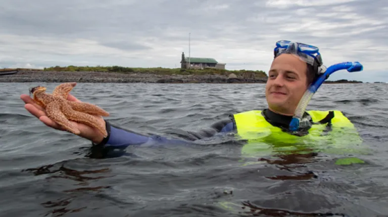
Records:
[[[36,104],[33,99],[26,94],[22,94],[20,98],[25,102],[26,110],[33,116],[39,119],[46,126],[56,130],[65,131],[63,127],[55,123],[53,120],[46,116],[45,111],[41,106]],[[69,101],[80,101],[73,95],[69,94],[67,99]],[[141,135],[129,130],[121,129],[116,126],[111,126],[109,122],[104,121],[101,116],[94,116],[102,123],[105,122],[108,131],[108,136],[104,138],[102,133],[98,130],[84,124],[72,122],[80,130],[80,137],[88,139],[92,142],[93,150],[98,150],[100,153],[96,153],[100,157],[120,156],[123,154],[123,150],[130,145],[161,145],[161,144],[190,144],[195,140],[202,138],[213,137],[218,133],[230,132],[235,130],[233,121],[231,119],[218,121],[210,128],[200,130],[198,132],[185,132],[179,135],[179,139],[170,139],[161,137],[159,135]],[[118,152],[116,150],[119,150]],[[121,150],[121,152],[120,152]],[[109,157],[109,156],[108,156]]]

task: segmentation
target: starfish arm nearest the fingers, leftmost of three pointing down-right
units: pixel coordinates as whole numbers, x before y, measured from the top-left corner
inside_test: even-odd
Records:
[[[61,103],[58,103],[57,101],[52,101],[47,104],[45,108],[47,117],[64,127],[67,131],[77,135],[80,134],[78,128],[74,124],[72,124],[61,112],[60,105]]]

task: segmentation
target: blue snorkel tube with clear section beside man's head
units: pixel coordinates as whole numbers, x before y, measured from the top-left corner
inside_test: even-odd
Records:
[[[302,96],[301,101],[299,102],[297,109],[295,110],[295,115],[292,121],[289,123],[289,130],[297,131],[299,127],[305,127],[310,125],[308,120],[302,121],[303,114],[306,111],[307,104],[309,103],[311,97],[317,92],[321,84],[331,75],[332,73],[346,69],[348,72],[359,72],[363,70],[363,66],[359,62],[344,62],[338,63],[327,68],[326,72],[318,77],[318,79],[309,86],[304,95]]]

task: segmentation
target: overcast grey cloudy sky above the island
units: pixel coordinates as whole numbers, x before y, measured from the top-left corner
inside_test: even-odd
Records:
[[[276,41],[292,40],[319,47],[327,67],[364,66],[328,80],[388,82],[387,24],[386,0],[2,0],[0,68],[178,68],[190,47],[268,72]]]

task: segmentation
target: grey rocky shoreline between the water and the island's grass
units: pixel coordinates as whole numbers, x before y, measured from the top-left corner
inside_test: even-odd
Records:
[[[234,75],[234,74],[233,74]],[[0,76],[2,82],[78,82],[78,83],[265,83],[267,78],[226,75],[159,75],[152,73],[116,72],[49,72],[19,71]]]

